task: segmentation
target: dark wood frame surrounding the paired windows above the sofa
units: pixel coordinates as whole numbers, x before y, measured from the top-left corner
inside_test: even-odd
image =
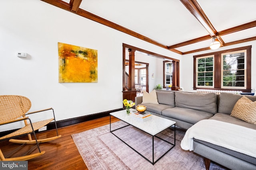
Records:
[[[194,84],[193,84],[193,90],[196,89],[210,89],[210,90],[232,90],[232,91],[242,91],[242,92],[251,92],[251,49],[252,45],[245,46],[245,47],[238,47],[234,49],[228,49],[223,51],[216,51],[212,53],[206,53],[201,55],[194,55]],[[224,53],[232,53],[237,51],[243,51],[246,50],[246,82],[245,82],[245,88],[222,88],[222,54]],[[197,87],[197,58],[198,57],[206,57],[214,55],[214,87],[208,88],[206,86],[204,87]]]

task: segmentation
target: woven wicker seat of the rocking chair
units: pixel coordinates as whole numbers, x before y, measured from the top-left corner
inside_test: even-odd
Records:
[[[47,125],[48,123],[50,123],[52,119],[47,119],[47,120],[42,120],[42,121],[38,121],[38,122],[34,122],[32,123],[33,125],[33,128],[34,128],[34,131],[40,129],[41,127],[44,127],[45,125]],[[3,137],[0,137],[0,140],[2,139],[7,139],[7,138],[11,138],[11,137],[16,137],[16,136],[20,136],[20,135],[24,135],[24,134],[28,134],[28,133],[32,133],[33,130],[32,130],[32,127],[30,125],[30,123],[20,129],[18,129],[17,131],[13,132],[13,133],[10,133],[8,135],[5,135]]]

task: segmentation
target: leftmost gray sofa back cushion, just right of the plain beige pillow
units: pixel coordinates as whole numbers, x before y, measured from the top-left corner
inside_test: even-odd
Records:
[[[159,104],[175,107],[175,92],[156,91],[156,96]]]

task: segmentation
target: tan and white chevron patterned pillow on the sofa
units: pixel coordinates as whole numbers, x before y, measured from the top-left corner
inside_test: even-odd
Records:
[[[236,102],[230,115],[248,123],[256,124],[256,101],[252,102],[252,100],[243,96]]]

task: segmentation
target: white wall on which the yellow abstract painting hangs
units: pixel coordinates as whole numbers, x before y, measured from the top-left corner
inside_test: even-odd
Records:
[[[28,97],[30,111],[53,107],[57,120],[122,107],[122,43],[181,58],[40,0],[6,0],[1,7],[0,95]],[[98,83],[58,83],[58,42],[98,50]],[[18,51],[28,57],[16,57]]]

